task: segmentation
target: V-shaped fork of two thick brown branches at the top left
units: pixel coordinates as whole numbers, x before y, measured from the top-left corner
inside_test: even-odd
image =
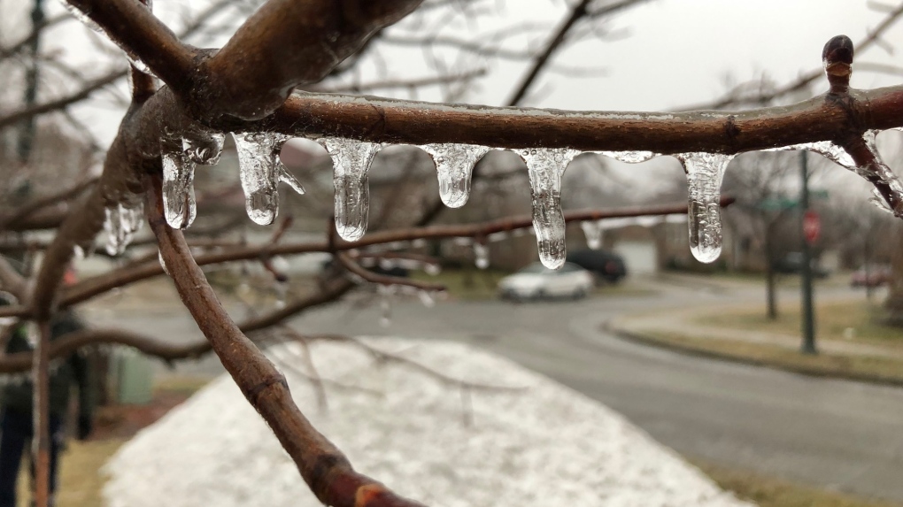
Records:
[[[182,43],[132,0],[67,1],[185,99],[192,116],[254,119],[294,87],[324,78],[422,0],[269,0],[215,55]]]

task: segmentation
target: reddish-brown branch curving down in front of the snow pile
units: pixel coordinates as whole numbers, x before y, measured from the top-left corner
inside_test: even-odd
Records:
[[[337,507],[420,505],[355,472],[348,458],[312,427],[294,404],[283,375],[229,318],[200,267],[194,263],[182,233],[166,225],[160,177],[145,176],[144,184],[148,221],[182,302],[247,401],[273,429],[317,498]]]

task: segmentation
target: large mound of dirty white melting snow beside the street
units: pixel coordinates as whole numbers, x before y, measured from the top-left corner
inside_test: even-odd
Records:
[[[321,410],[312,384],[293,373],[309,373],[303,349],[271,349],[277,365],[292,362],[284,373],[314,425],[397,493],[450,507],[747,505],[618,413],[507,360],[454,343],[366,343],[469,383],[526,388],[462,389],[322,342],[310,347],[329,379]],[[112,507],[320,505],[228,377],[135,436],[107,472]]]

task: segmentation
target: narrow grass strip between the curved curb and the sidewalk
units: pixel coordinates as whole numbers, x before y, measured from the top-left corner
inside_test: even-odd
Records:
[[[870,355],[803,355],[785,346],[731,339],[698,338],[677,332],[651,331],[643,338],[656,345],[743,363],[777,367],[796,373],[903,385],[903,360]]]

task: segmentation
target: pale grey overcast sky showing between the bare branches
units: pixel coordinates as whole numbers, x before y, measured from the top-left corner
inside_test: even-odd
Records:
[[[574,0],[571,0],[573,2]],[[200,10],[209,0],[190,4],[183,0],[155,0],[155,13],[178,31],[180,15],[186,10]],[[0,0],[7,20],[18,17],[31,2]],[[570,2],[569,2],[570,3]],[[565,13],[563,0],[496,0],[498,15],[474,22],[463,18],[433,23],[433,32],[460,35],[480,40],[480,34],[519,23],[554,26]],[[51,2],[54,12],[61,5]],[[19,16],[15,16],[19,13]],[[603,67],[606,75],[574,78],[560,73],[546,74],[526,101],[529,106],[563,109],[596,110],[669,110],[721,96],[727,89],[726,79],[733,82],[759,78],[763,74],[778,85],[796,78],[801,72],[821,67],[824,42],[837,34],[860,41],[880,23],[884,14],[871,10],[864,0],[653,0],[617,15],[607,27],[619,34],[612,41],[588,40],[570,45],[557,57],[571,67]],[[418,21],[417,16],[399,23],[393,33],[404,33]],[[14,30],[8,23],[5,30]],[[87,29],[79,23],[66,23],[51,32],[46,51],[58,51],[66,59],[90,72],[97,60],[97,42],[89,42]],[[213,45],[220,45],[228,37]],[[485,35],[483,36],[485,38]],[[510,49],[524,49],[541,44],[543,38],[522,36],[507,41]],[[884,37],[893,49],[903,51],[903,23],[894,26]],[[451,54],[439,54],[447,64],[457,60]],[[419,50],[385,50],[365,67],[363,81],[378,78],[423,77],[432,72]],[[898,64],[898,57],[880,46],[856,55],[857,62]],[[489,69],[487,78],[462,97],[472,103],[498,105],[507,100],[515,83],[525,71],[525,64],[498,60],[468,61],[467,69]],[[457,68],[460,69],[460,68]],[[903,77],[854,73],[857,88],[875,88],[898,84]],[[821,93],[824,80],[815,84]],[[125,83],[122,84],[125,91]],[[406,90],[380,90],[389,97],[408,97]],[[432,88],[420,92],[418,98],[442,99],[442,90]],[[107,94],[75,109],[102,142],[108,143],[116,133],[122,106],[113,105]]]

